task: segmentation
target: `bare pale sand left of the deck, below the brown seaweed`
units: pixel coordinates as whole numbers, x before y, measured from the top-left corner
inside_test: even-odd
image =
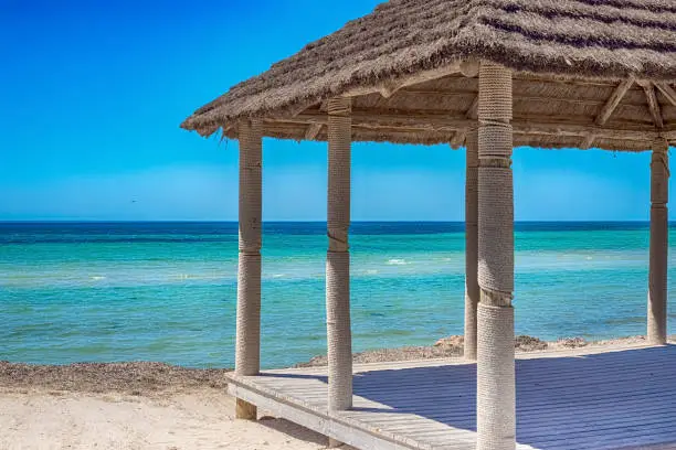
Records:
[[[0,449],[316,450],[326,439],[291,422],[233,420],[220,389],[166,398],[0,392]]]

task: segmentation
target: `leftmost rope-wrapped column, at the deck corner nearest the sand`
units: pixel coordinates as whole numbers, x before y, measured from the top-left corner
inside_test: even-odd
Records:
[[[240,265],[235,375],[257,375],[261,369],[261,227],[262,129],[260,121],[242,121],[240,138]],[[256,419],[256,407],[236,400],[239,419]]]

